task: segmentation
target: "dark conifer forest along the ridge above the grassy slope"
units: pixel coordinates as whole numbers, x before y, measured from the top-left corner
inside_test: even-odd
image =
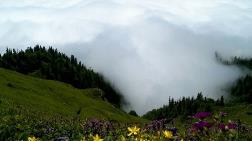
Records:
[[[0,67],[36,77],[62,81],[80,89],[100,88],[104,99],[116,107],[121,107],[123,97],[99,73],[87,68],[73,55],[60,53],[57,49],[36,45],[26,50],[6,49],[0,55]]]

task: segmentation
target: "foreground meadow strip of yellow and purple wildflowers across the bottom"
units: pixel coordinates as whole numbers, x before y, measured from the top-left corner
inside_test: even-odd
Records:
[[[53,120],[54,122],[43,122],[43,120],[41,122],[33,122],[28,119],[26,123],[32,123],[31,125],[33,126],[27,126],[26,128],[17,124],[17,129],[9,128],[8,130],[12,131],[11,133],[26,131],[28,133],[27,136],[20,136],[21,138],[14,139],[24,141],[215,141],[252,139],[251,128],[239,120],[229,120],[227,113],[199,112],[191,117],[189,123],[183,122],[185,128],[181,126],[176,128],[175,125],[178,124],[174,123],[175,120],[167,119],[154,120],[144,124],[121,123],[94,118],[84,121],[68,121],[58,118],[57,120],[60,121],[60,124],[54,124],[56,120]],[[0,124],[10,125],[10,123],[15,123],[13,122],[15,120],[18,123],[26,121],[22,117],[14,119],[6,117],[1,120]]]

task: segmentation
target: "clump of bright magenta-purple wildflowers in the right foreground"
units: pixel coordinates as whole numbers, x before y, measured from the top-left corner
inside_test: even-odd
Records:
[[[209,112],[199,112],[192,117],[196,121],[188,128],[186,140],[237,140],[241,137],[241,132],[248,133],[248,130],[241,130],[242,125],[239,122],[225,122],[225,112],[215,116]]]

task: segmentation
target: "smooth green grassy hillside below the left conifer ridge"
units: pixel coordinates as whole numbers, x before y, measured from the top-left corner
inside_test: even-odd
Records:
[[[99,89],[76,89],[0,68],[0,110],[15,109],[39,116],[138,121],[101,98]]]

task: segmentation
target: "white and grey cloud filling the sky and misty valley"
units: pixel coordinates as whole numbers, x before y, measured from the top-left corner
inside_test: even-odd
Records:
[[[0,17],[0,51],[74,54],[140,114],[169,96],[224,95],[242,73],[214,52],[252,55],[251,0],[8,0]]]

